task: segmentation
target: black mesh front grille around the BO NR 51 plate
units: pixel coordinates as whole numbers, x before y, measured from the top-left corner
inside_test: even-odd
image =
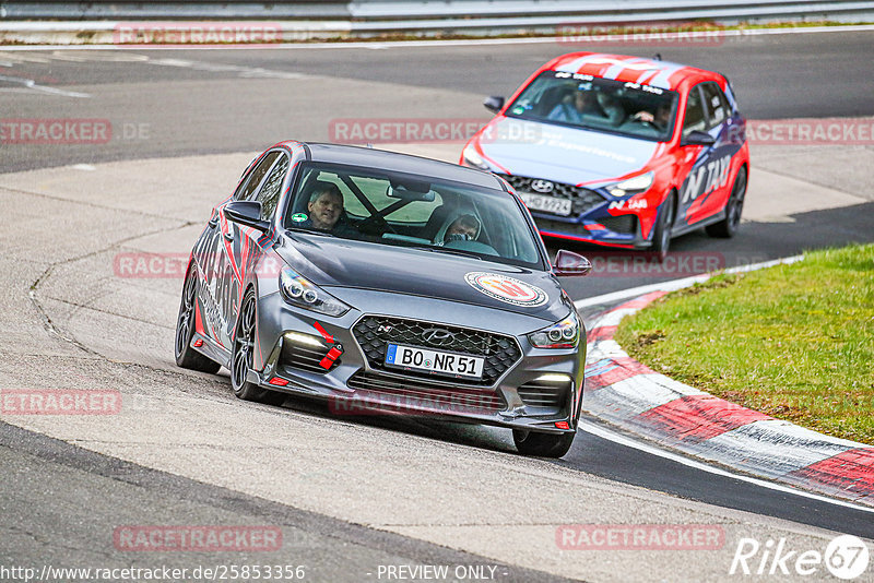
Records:
[[[428,342],[423,335],[429,329],[440,329],[449,332],[452,337],[449,342]],[[375,370],[389,370],[405,377],[420,377],[444,380],[453,384],[492,385],[522,357],[522,352],[511,336],[493,334],[466,328],[435,324],[418,320],[389,318],[382,316],[366,316],[352,329],[355,340],[358,341],[367,362]],[[386,345],[388,343],[408,344],[446,350],[450,353],[464,353],[485,358],[483,378],[464,379],[448,378],[427,372],[397,371],[386,367]]]

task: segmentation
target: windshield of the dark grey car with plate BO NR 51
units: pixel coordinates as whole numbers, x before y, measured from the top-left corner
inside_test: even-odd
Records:
[[[545,269],[522,209],[503,191],[305,163],[288,204],[286,229]]]

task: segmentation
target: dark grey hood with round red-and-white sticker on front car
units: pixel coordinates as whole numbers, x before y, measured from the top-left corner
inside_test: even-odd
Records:
[[[352,300],[354,294],[346,295],[336,288],[371,289],[485,306],[547,322],[560,320],[570,309],[569,300],[563,300],[558,279],[548,272],[303,233],[286,234],[276,251],[292,269],[312,283],[331,288],[331,294],[344,301]],[[496,299],[468,283],[465,275],[474,272],[522,281],[541,289],[546,300],[540,306],[516,306]],[[356,308],[367,310],[363,306]],[[439,319],[438,313],[422,314],[426,316]]]

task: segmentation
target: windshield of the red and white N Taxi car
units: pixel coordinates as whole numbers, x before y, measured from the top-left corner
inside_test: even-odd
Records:
[[[507,108],[509,117],[664,142],[676,117],[676,92],[544,71]]]

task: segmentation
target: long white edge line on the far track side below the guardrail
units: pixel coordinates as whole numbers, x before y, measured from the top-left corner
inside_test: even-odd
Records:
[[[101,23],[111,25],[113,23]],[[755,28],[752,31],[723,31],[722,34],[731,37],[763,36],[763,35],[788,35],[788,34],[825,34],[825,33],[867,33],[873,32],[874,25],[858,24],[846,26],[807,26],[800,28]],[[0,27],[2,32],[2,27]],[[298,31],[299,32],[299,31]],[[623,40],[617,36],[617,40]],[[599,37],[602,44],[609,43],[609,37]],[[572,52],[572,45],[589,45],[590,43],[574,43],[568,37],[538,37],[538,38],[460,38],[446,40],[391,40],[391,41],[354,41],[354,43],[276,43],[270,45],[234,45],[228,49],[343,49],[343,48],[408,48],[408,47],[468,47],[480,45],[542,45],[547,43],[563,44],[568,46],[568,52]],[[153,47],[147,45],[20,45],[3,47],[4,51],[26,51],[26,50],[213,50],[215,46],[162,46]],[[222,49],[225,47],[222,47]]]

